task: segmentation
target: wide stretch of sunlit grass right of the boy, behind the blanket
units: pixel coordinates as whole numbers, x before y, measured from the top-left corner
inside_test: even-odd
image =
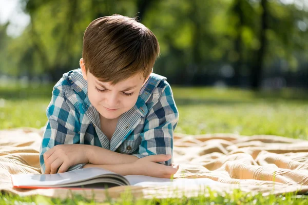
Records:
[[[177,132],[280,135],[308,139],[308,98],[285,90],[254,93],[243,90],[175,88],[180,112]]]

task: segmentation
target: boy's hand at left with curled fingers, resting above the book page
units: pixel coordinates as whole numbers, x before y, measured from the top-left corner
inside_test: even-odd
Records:
[[[88,163],[88,147],[79,144],[54,146],[43,155],[45,174],[66,172],[73,165]]]

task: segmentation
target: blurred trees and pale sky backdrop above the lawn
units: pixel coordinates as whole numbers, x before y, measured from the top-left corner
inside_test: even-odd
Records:
[[[1,0],[1,74],[55,81],[79,65],[91,20],[138,16],[171,84],[308,87],[308,1]],[[4,82],[4,77],[2,77]]]

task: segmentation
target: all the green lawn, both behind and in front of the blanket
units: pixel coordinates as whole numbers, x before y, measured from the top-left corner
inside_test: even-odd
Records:
[[[45,110],[52,86],[29,88],[0,87],[0,129],[40,128],[46,122]],[[236,89],[173,89],[180,112],[176,132],[189,134],[238,133],[241,135],[273,134],[308,139],[308,97],[303,91],[251,92]],[[61,201],[42,196],[0,196],[0,204],[91,204],[77,196]],[[126,203],[127,202],[127,203]],[[251,197],[240,191],[225,197],[212,194],[196,198],[134,201],[107,201],[113,204],[308,204],[307,196]]]

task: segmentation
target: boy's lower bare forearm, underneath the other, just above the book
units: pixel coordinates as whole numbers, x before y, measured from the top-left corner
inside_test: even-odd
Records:
[[[136,172],[136,169],[133,169],[131,163],[124,163],[120,165],[93,165],[91,163],[87,163],[83,168],[90,168],[90,167],[103,168],[105,170],[121,174],[123,176],[139,174]]]

